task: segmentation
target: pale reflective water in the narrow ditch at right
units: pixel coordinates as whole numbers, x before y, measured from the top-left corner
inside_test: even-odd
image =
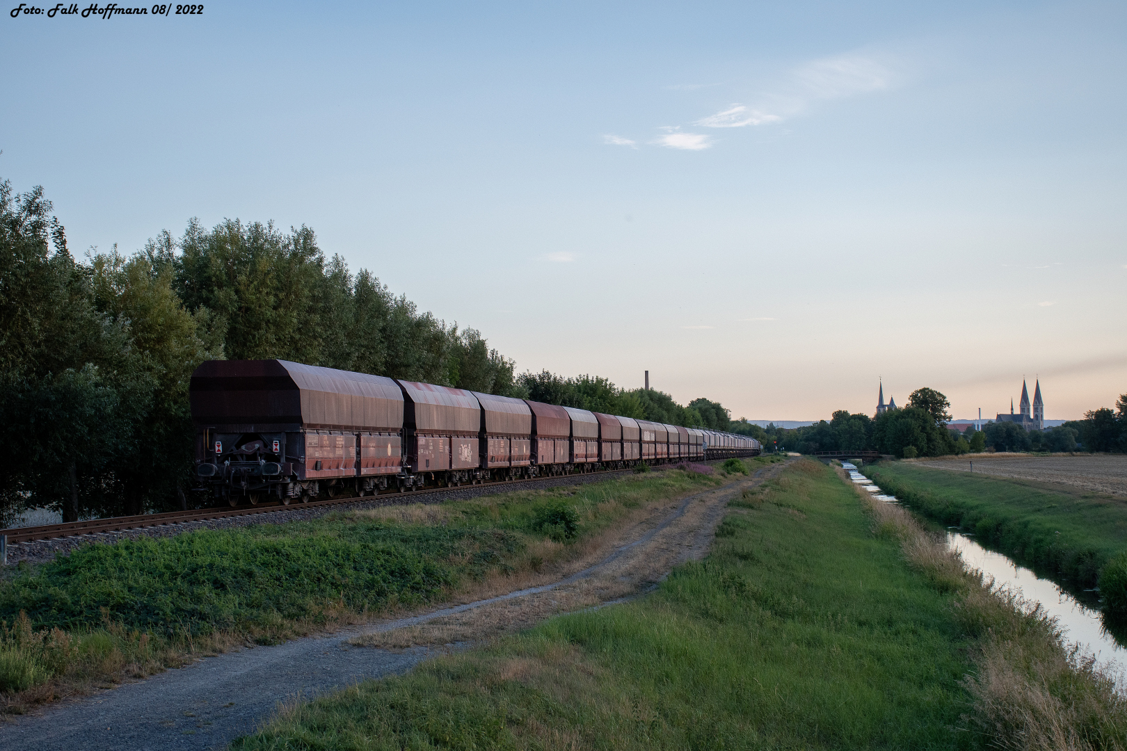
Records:
[[[886,503],[896,503],[896,497],[880,491],[871,480],[857,471],[857,466],[842,462],[850,479]],[[1041,607],[1065,629],[1065,638],[1075,642],[1095,655],[1102,664],[1127,665],[1127,650],[1103,627],[1100,610],[1081,602],[1061,588],[1059,584],[1041,579],[1029,569],[1020,566],[1008,556],[988,551],[969,535],[958,530],[947,530],[947,544],[962,556],[970,569],[978,569],[993,576],[999,584],[1021,590],[1027,600],[1040,602]]]

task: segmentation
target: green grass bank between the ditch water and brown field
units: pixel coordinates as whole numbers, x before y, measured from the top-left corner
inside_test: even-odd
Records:
[[[1127,503],[1110,495],[1022,480],[881,463],[864,474],[924,516],[957,525],[1019,563],[1079,587],[1100,583],[1113,615],[1127,614],[1127,582],[1106,572],[1127,549]],[[1118,558],[1113,570],[1122,567]],[[1119,590],[1122,590],[1121,592]],[[1122,607],[1116,607],[1122,599]]]

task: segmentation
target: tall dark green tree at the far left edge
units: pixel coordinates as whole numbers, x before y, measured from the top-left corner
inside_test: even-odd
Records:
[[[0,435],[20,447],[0,474],[0,502],[72,521],[106,501],[98,480],[135,448],[130,427],[152,381],[128,327],[94,305],[89,269],[51,211],[42,188],[14,196],[0,184]]]

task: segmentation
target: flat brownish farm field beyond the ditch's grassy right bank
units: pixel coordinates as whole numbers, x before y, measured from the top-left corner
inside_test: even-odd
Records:
[[[959,458],[911,461],[920,467],[970,472],[1014,480],[1031,480],[1079,490],[1127,495],[1127,455],[1021,456],[991,454]]]

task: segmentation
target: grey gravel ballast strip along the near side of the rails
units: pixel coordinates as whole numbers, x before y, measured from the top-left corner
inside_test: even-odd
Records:
[[[402,506],[406,503],[443,503],[446,501],[465,501],[481,495],[495,495],[497,493],[513,493],[522,490],[548,490],[551,488],[562,488],[566,485],[585,485],[592,482],[613,480],[632,474],[631,470],[620,472],[595,472],[592,474],[562,475],[559,477],[544,477],[532,482],[522,483],[491,483],[488,485],[465,485],[451,488],[442,492],[428,493],[393,493],[388,495],[375,495],[366,500],[347,500],[340,506],[317,506],[313,508],[302,508],[296,506],[279,506],[277,511],[254,513],[241,517],[222,517],[219,519],[206,519],[203,521],[181,521],[177,524],[163,525],[160,527],[140,527],[137,529],[123,529],[121,531],[96,533],[92,535],[79,535],[77,537],[60,537],[56,539],[37,539],[28,543],[15,543],[8,546],[8,563],[15,564],[20,561],[28,563],[42,563],[51,561],[55,554],[69,554],[71,551],[92,545],[94,543],[105,543],[113,545],[122,539],[136,539],[139,537],[171,537],[196,529],[228,529],[231,527],[246,527],[258,524],[286,524],[287,521],[307,521],[317,519],[326,513],[337,513],[341,510],[371,509],[380,506]]]

